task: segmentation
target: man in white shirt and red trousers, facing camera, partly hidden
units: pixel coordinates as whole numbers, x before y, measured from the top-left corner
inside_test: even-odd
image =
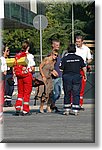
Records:
[[[76,55],[81,56],[86,65],[90,64],[92,61],[90,49],[83,43],[82,36],[76,36]],[[86,80],[84,79],[83,70],[80,70],[80,74],[82,76],[82,84],[81,84],[81,91],[80,91],[80,107],[82,107]]]

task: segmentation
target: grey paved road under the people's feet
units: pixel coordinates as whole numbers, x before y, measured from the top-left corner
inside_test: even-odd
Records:
[[[95,142],[95,118],[94,103],[92,102],[86,100],[85,111],[80,111],[78,116],[62,115],[62,99],[57,102],[60,113],[39,113],[39,102],[37,102],[37,106],[33,106],[33,99],[31,116],[13,116],[14,107],[4,108],[4,138],[2,142],[93,143]]]

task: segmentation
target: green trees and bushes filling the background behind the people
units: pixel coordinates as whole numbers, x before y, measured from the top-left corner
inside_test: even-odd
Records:
[[[43,55],[51,49],[51,40],[61,41],[61,52],[68,46],[72,37],[72,4],[71,3],[45,3],[48,26],[42,32]],[[95,3],[75,3],[74,8],[74,33],[82,34],[86,39],[95,38]],[[3,41],[8,44],[12,52],[21,48],[24,40],[31,42],[34,55],[40,54],[40,33],[32,29],[9,29],[3,31]]]

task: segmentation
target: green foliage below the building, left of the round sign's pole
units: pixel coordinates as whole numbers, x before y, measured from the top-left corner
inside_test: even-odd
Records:
[[[39,48],[39,33],[35,29],[9,29],[3,31],[3,43],[10,47],[12,53],[21,49],[24,40],[28,40],[33,44],[33,51],[35,47]]]

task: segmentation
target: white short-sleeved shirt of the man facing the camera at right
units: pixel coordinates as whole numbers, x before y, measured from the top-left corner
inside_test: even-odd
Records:
[[[82,45],[81,48],[78,48],[76,46],[76,55],[81,56],[84,59],[84,62],[86,63],[87,59],[91,59],[91,53],[90,53],[90,49],[86,46],[86,45]]]

